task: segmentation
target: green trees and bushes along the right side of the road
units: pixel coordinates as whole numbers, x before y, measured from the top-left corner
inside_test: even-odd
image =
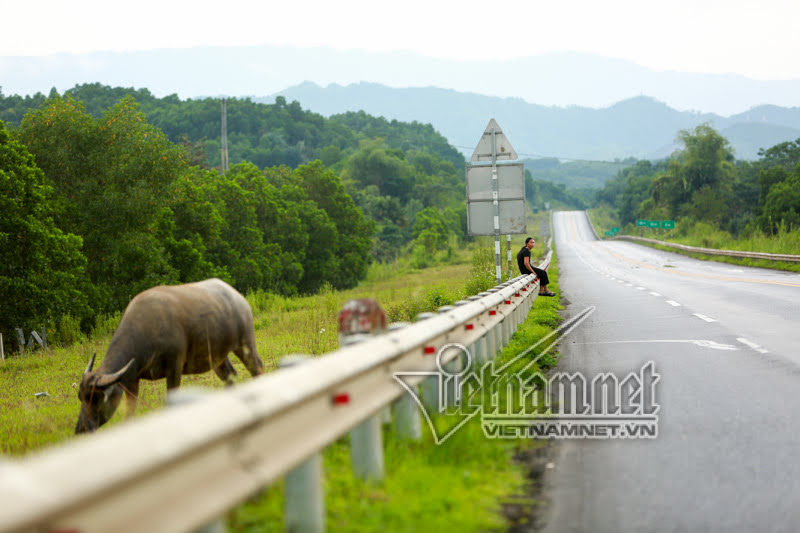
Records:
[[[619,227],[621,234],[689,246],[800,254],[800,139],[762,149],[748,162],[737,161],[708,125],[678,138],[684,148],[670,159],[638,161],[597,192],[590,217],[601,237]],[[675,229],[640,228],[637,219],[674,220]],[[690,255],[800,271],[796,263]]]

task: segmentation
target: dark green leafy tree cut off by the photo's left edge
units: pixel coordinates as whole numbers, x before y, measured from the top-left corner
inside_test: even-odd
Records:
[[[56,227],[52,192],[33,156],[0,122],[0,331],[91,315],[81,239]]]

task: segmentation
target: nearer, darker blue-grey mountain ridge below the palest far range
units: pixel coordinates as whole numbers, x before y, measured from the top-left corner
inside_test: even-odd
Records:
[[[660,159],[678,148],[675,139],[679,130],[706,122],[730,141],[739,159],[756,159],[760,148],[800,138],[800,107],[762,105],[723,117],[677,111],[648,96],[595,109],[364,82],[327,87],[304,82],[256,100],[272,103],[279,95],[326,116],[363,110],[387,119],[429,122],[467,156],[490,118],[498,121],[520,157],[525,158]]]

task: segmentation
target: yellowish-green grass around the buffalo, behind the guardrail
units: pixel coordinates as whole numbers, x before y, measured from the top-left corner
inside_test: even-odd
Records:
[[[463,297],[462,290],[469,279],[470,266],[461,262],[401,270],[394,277],[375,276],[349,291],[327,290],[308,297],[250,294],[258,353],[267,370],[271,370],[282,355],[332,351],[338,347],[336,315],[347,300],[376,298],[390,310],[408,307],[408,302],[424,305],[426,301],[437,301],[445,305]],[[112,324],[68,347],[54,346],[26,356],[10,356],[0,363],[0,454],[23,455],[74,438],[79,411],[77,384],[93,352],[98,354],[98,364],[102,360],[115,327]],[[235,357],[231,361],[239,373],[237,380],[249,379],[244,365]],[[184,376],[182,385],[223,386],[213,373]],[[38,392],[46,392],[47,396],[36,397]],[[142,380],[135,416],[161,408],[165,401],[163,380]],[[118,409],[109,424],[124,420],[124,412],[124,406]]]

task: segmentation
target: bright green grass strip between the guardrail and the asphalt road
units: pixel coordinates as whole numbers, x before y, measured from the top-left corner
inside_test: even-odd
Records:
[[[558,291],[558,264],[549,269],[551,289]],[[528,319],[517,329],[498,363],[538,342],[560,322],[559,298],[537,298]],[[518,371],[532,357],[513,364]],[[532,374],[554,366],[556,354],[547,354]],[[438,422],[438,421],[437,421]],[[434,443],[423,424],[423,440],[408,443],[385,428],[386,479],[367,483],[352,474],[347,437],[325,449],[327,526],[331,531],[503,531],[509,523],[502,509],[514,505],[533,508],[526,494],[526,479],[512,462],[520,450],[541,445],[536,440],[489,439],[479,417],[474,418],[441,445]],[[273,485],[230,513],[231,531],[283,531],[283,486]],[[523,515],[524,518],[524,515]]]

